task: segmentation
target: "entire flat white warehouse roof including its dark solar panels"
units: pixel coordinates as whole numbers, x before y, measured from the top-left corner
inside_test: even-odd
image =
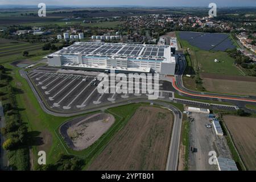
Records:
[[[86,57],[107,57],[109,59],[138,59],[175,63],[170,46],[76,42],[53,55],[82,55]]]

